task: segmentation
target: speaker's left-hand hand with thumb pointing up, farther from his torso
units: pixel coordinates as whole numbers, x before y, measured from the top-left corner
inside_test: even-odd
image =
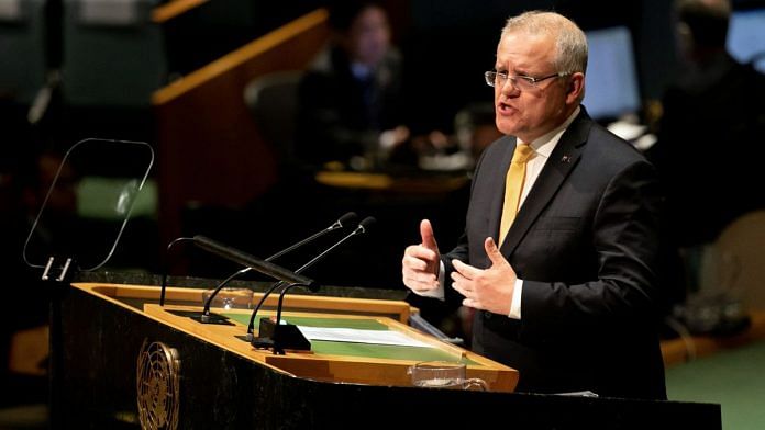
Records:
[[[428,219],[420,223],[420,245],[407,247],[401,260],[403,284],[415,293],[424,293],[439,287],[441,253],[433,236],[433,227]]]

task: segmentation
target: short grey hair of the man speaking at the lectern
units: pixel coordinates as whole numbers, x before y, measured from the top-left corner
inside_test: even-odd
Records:
[[[517,32],[555,37],[553,66],[558,72],[572,75],[587,70],[587,37],[572,20],[555,12],[524,12],[508,19],[502,29],[502,38]]]

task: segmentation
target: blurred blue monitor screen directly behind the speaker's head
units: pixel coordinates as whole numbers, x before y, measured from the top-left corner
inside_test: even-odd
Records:
[[[624,26],[588,31],[589,60],[584,105],[596,120],[641,108],[632,36]]]

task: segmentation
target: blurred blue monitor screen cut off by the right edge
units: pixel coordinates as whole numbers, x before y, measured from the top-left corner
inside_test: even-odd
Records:
[[[754,67],[765,73],[765,8],[733,11],[728,50],[741,63],[756,59]]]

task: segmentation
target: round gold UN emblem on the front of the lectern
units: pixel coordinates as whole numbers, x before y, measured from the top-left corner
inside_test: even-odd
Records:
[[[180,397],[178,351],[144,340],[137,363],[138,418],[142,429],[177,429]]]

